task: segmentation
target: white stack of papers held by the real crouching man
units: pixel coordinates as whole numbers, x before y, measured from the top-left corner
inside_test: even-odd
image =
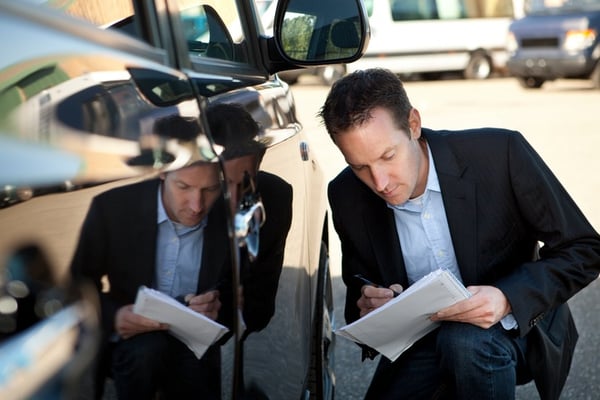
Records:
[[[335,331],[395,361],[439,322],[429,316],[471,296],[449,271],[429,273],[378,309]]]

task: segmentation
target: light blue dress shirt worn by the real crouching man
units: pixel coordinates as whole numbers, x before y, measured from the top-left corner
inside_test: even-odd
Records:
[[[403,204],[388,204],[388,207],[394,210],[396,231],[402,246],[408,283],[412,285],[436,269],[446,269],[462,282],[440,183],[429,146],[427,151],[429,173],[425,192]],[[517,326],[512,314],[505,316],[501,323],[505,329]]]

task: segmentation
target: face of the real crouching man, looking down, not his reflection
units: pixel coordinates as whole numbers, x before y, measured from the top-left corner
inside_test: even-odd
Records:
[[[427,148],[419,141],[421,121],[416,109],[409,117],[410,136],[396,127],[390,113],[375,108],[372,118],[334,136],[356,176],[392,205],[425,191]]]

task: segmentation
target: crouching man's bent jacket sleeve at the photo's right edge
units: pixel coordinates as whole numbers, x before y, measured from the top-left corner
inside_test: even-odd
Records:
[[[500,279],[521,335],[600,272],[600,237],[535,150],[520,135],[508,143],[513,195],[542,246],[539,258]]]

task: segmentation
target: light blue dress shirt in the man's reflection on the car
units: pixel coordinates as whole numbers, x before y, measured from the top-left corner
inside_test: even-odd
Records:
[[[206,218],[192,227],[171,221],[165,211],[159,187],[156,222],[156,289],[171,297],[196,294]]]

